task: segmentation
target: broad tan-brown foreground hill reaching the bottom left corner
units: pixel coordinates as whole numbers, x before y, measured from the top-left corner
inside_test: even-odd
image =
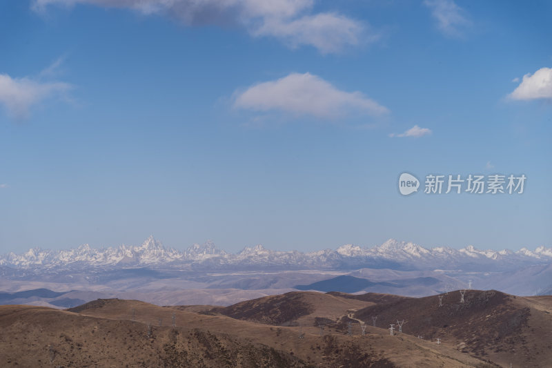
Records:
[[[72,310],[1,306],[0,367],[495,367],[446,344],[373,327],[364,336],[358,326],[353,336],[320,336],[316,327],[275,327],[136,300]]]

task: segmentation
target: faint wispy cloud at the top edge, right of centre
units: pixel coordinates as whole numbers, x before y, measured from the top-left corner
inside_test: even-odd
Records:
[[[437,27],[447,36],[460,37],[464,28],[471,26],[464,9],[453,0],[425,0],[424,5],[431,8]]]

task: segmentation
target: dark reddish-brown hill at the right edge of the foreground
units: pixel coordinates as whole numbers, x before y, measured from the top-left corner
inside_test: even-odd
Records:
[[[509,367],[552,367],[552,298],[522,298],[499,291],[468,290],[408,298],[361,309],[354,317],[388,328],[406,320],[402,331],[442,338],[460,351]],[[396,326],[395,326],[396,327]]]

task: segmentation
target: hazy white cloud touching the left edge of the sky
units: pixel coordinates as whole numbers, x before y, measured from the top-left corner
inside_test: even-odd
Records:
[[[26,119],[33,105],[69,89],[70,85],[62,82],[40,82],[0,74],[0,104],[16,119]]]

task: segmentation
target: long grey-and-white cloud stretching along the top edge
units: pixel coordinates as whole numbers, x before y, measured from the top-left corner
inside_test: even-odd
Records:
[[[253,36],[276,37],[292,48],[310,45],[322,53],[377,39],[364,23],[342,14],[313,13],[315,0],[34,0],[32,7],[41,12],[52,4],[80,3],[164,14],[188,25],[237,23]]]

